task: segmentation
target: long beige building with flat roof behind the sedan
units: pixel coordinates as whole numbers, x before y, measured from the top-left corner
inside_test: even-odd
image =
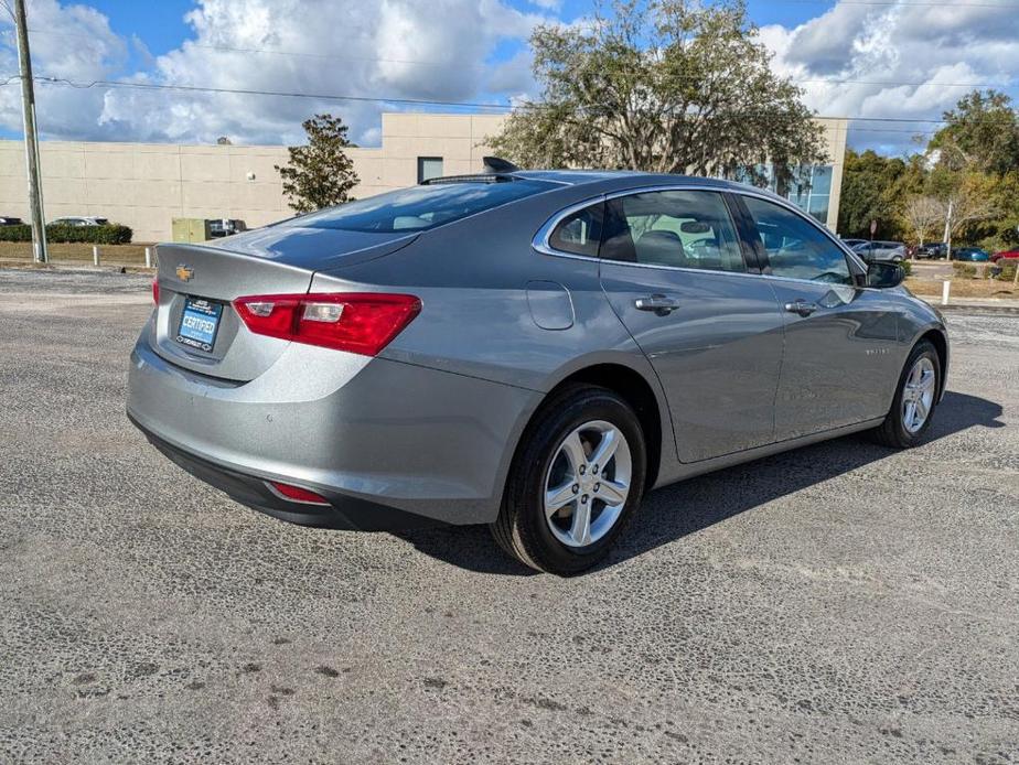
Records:
[[[503,115],[384,114],[382,146],[350,149],[356,197],[410,186],[425,177],[479,172],[492,153],[485,138]],[[846,120],[819,120],[830,164],[791,198],[835,230]],[[41,143],[46,219],[97,215],[135,230],[136,241],[171,237],[173,218],[239,218],[248,227],[289,217],[275,165],[286,147],[167,143]],[[0,215],[28,218],[24,144],[0,141]]]

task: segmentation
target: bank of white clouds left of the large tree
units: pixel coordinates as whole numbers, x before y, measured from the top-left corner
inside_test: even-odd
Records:
[[[107,19],[86,6],[36,0],[33,29],[75,34],[74,45],[33,36],[36,74],[76,83],[131,79],[223,90],[259,90],[361,98],[476,100],[491,93],[491,61],[505,40],[523,41],[540,12],[522,12],[504,0],[197,0],[185,17],[191,39],[124,76],[130,42],[110,32]],[[8,26],[8,30],[10,28]],[[138,47],[144,61],[144,49]],[[11,52],[0,66],[17,72]],[[120,76],[117,76],[119,73]],[[151,141],[296,142],[300,123],[318,111],[342,115],[351,138],[378,140],[378,115],[395,104],[293,98],[237,93],[42,85],[40,125],[56,138]],[[0,88],[0,123],[21,125],[17,88]],[[410,107],[403,107],[410,108]]]

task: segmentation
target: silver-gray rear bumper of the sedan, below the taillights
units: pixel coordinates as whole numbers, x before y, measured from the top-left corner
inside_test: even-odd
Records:
[[[287,520],[395,529],[495,519],[540,394],[293,345],[265,375],[230,382],[169,363],[143,332],[128,416],[187,472]],[[331,507],[281,498],[266,481],[308,488]]]

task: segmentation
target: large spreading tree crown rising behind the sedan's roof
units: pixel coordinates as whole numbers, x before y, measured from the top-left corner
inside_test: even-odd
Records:
[[[613,0],[590,23],[536,28],[530,45],[541,95],[489,139],[517,164],[757,183],[772,164],[781,193],[825,160],[802,91],[771,71],[742,0]]]

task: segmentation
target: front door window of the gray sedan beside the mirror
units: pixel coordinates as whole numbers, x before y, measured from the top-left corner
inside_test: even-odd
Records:
[[[846,255],[816,226],[772,202],[755,196],[742,198],[757,224],[773,276],[854,283]]]

